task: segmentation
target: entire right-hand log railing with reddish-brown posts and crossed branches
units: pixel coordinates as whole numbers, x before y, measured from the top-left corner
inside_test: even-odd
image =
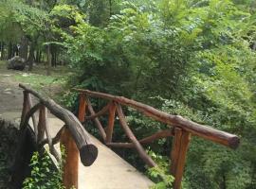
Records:
[[[149,144],[160,138],[173,136],[174,140],[170,158],[172,163],[171,173],[174,175],[174,189],[179,189],[181,186],[181,180],[186,161],[186,153],[192,135],[210,140],[223,146],[228,146],[233,149],[239,146],[239,138],[236,135],[194,123],[188,119],[183,118],[182,116],[161,112],[153,107],[122,96],[103,94],[81,89],[74,89],[74,91],[80,93],[79,112],[82,112],[81,115],[83,117],[81,118],[83,119],[83,124],[86,123],[87,120],[93,120],[96,127],[100,130],[101,137],[107,146],[135,148],[137,149],[139,157],[150,167],[156,166],[156,163],[146,153],[142,145]],[[103,107],[101,111],[95,112],[89,97],[98,97],[107,100],[108,104]],[[121,106],[131,107],[137,112],[141,112],[142,114],[151,117],[155,121],[167,124],[169,129],[160,130],[149,137],[138,140],[133,131],[129,128]],[[89,112],[90,115],[86,116],[85,110],[86,112]],[[108,123],[106,128],[102,127],[101,121],[99,119],[99,117],[104,114],[108,114]],[[116,117],[119,117],[119,119]],[[119,120],[119,125],[129,138],[130,143],[112,142],[114,122],[116,120]]]

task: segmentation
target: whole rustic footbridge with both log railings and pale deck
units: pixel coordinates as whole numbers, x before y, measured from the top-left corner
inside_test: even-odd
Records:
[[[24,90],[24,105],[20,123],[20,128],[23,130],[24,135],[21,141],[22,145],[18,150],[20,154],[18,155],[20,155],[20,157],[24,156],[23,152],[27,147],[25,146],[27,143],[26,136],[27,130],[30,130],[30,123],[33,125],[32,129],[36,144],[35,149],[41,150],[47,144],[49,152],[59,163],[61,163],[61,158],[58,153],[58,147],[55,148],[54,145],[59,142],[63,144],[66,151],[64,163],[64,185],[66,188],[70,188],[71,186],[75,186],[76,188],[90,188],[86,187],[86,185],[92,185],[91,188],[94,189],[143,189],[149,188],[149,186],[153,184],[152,181],[139,174],[134,167],[122,161],[118,155],[92,137],[86,131],[87,120],[94,121],[106,146],[135,148],[139,157],[150,167],[157,166],[157,164],[144,150],[143,145],[149,144],[157,139],[173,137],[173,146],[171,147],[170,155],[172,162],[170,174],[174,176],[174,189],[181,187],[186,153],[192,136],[198,136],[230,148],[236,148],[239,145],[239,138],[233,134],[194,123],[179,115],[160,112],[153,107],[122,96],[75,89],[76,92],[80,93],[77,118],[73,113],[65,110],[53,100],[43,97],[41,94],[38,94],[22,84],[20,84],[20,87]],[[38,99],[38,103],[35,105],[32,103],[31,95]],[[91,97],[106,100],[107,105],[103,107],[101,111],[95,112],[90,102]],[[122,107],[130,107],[137,112],[141,112],[155,121],[168,125],[169,129],[159,130],[151,136],[138,140],[127,124]],[[56,119],[54,119],[55,121],[49,121],[51,118],[48,118],[47,110],[51,112],[52,115],[55,115],[59,121],[56,121]],[[35,114],[36,112],[39,112],[38,119]],[[108,116],[108,123],[107,127],[103,128],[99,117],[105,114]],[[29,122],[30,119],[31,121]],[[124,130],[129,139],[127,143],[114,143],[112,141],[112,135],[115,130],[114,123],[117,120],[119,120],[119,126]],[[54,134],[54,137],[51,137],[52,134]],[[79,161],[79,156],[81,161]],[[27,159],[28,158],[29,157],[27,157]],[[22,166],[19,166],[19,164],[26,163],[26,157],[21,158],[21,160],[23,160],[23,162],[19,161],[16,163],[17,167],[20,168],[20,170],[17,168],[17,175],[22,171]],[[97,164],[97,166],[94,166],[93,163]],[[84,168],[82,165],[92,165],[91,167],[95,168]],[[107,168],[105,166],[107,166]],[[105,180],[99,180],[99,174],[97,174],[97,172],[101,172],[103,169],[105,169],[103,171],[105,175],[101,174],[101,176],[104,177]],[[129,171],[127,172],[127,170]],[[96,183],[89,183],[89,180],[86,180],[89,175],[91,175],[91,182]],[[124,175],[124,177],[120,178],[120,175]],[[18,176],[15,177],[15,175],[13,176],[13,178],[17,177]],[[119,178],[120,181],[117,182]],[[81,182],[81,180],[83,181]],[[105,182],[103,183],[105,187],[97,187],[95,185],[97,182]],[[109,182],[114,182],[115,185],[110,186],[108,185]],[[125,187],[126,184],[128,185],[127,187]]]

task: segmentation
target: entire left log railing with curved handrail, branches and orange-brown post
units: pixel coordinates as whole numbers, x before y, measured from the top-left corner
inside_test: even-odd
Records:
[[[54,145],[61,141],[66,155],[64,160],[64,186],[66,188],[72,186],[78,188],[79,154],[84,166],[90,166],[98,156],[98,148],[92,144],[89,134],[82,127],[81,121],[83,121],[84,115],[80,113],[79,119],[81,120],[79,120],[73,113],[65,110],[53,100],[43,97],[25,85],[20,84],[19,86],[24,90],[21,130],[27,128],[29,119],[32,118],[38,150],[41,151],[47,144],[50,153],[58,163],[61,163],[62,160]],[[39,101],[34,106],[32,105],[31,94]],[[50,133],[47,110],[64,121],[63,128],[59,130],[55,137],[52,137]],[[38,121],[35,116],[37,111],[39,111]]]

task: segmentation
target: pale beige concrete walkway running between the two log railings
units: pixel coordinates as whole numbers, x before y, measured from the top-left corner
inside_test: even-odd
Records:
[[[19,122],[20,112],[3,113],[5,119]],[[64,123],[56,118],[49,118],[52,136],[62,128]],[[107,146],[92,137],[99,149],[99,156],[89,167],[79,166],[79,189],[148,189],[154,183],[137,171],[131,164],[125,162]],[[56,145],[59,148],[59,145]]]

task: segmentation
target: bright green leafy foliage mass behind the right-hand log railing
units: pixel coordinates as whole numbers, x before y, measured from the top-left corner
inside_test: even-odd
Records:
[[[108,25],[84,21],[64,35],[78,74],[74,85],[133,97],[242,138],[236,151],[194,138],[187,188],[255,187],[255,13],[244,2],[126,1]],[[138,138],[166,127],[127,114]],[[116,132],[115,139],[125,140]],[[169,140],[151,147],[165,157],[166,146]]]

